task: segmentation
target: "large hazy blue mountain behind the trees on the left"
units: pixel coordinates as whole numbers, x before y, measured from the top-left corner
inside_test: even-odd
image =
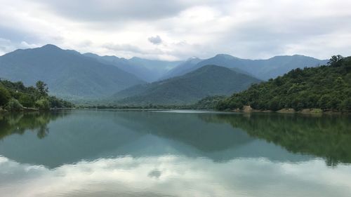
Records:
[[[41,80],[52,95],[72,99],[106,97],[145,83],[110,64],[50,44],[0,56],[0,77],[26,85]]]

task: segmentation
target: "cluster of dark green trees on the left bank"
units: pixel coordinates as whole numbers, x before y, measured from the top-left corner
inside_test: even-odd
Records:
[[[74,107],[74,105],[48,95],[48,87],[43,81],[37,81],[35,87],[26,87],[20,81],[0,80],[0,107],[7,111],[21,111],[23,109],[48,110],[55,107]]]

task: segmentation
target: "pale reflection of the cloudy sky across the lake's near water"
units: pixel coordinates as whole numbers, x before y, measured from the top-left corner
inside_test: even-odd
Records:
[[[350,166],[264,158],[101,158],[48,169],[0,157],[1,196],[349,196]],[[156,176],[154,175],[156,173]],[[15,188],[15,189],[14,189]]]

